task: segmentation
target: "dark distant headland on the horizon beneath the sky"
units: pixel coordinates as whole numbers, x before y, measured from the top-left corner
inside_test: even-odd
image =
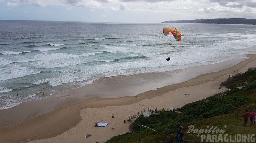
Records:
[[[194,19],[194,20],[175,20],[161,23],[211,23],[211,24],[251,24],[256,25],[256,19],[246,18],[215,18],[215,19]]]

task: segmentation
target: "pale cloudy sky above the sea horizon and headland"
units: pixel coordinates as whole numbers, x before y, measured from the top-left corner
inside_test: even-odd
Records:
[[[256,19],[256,0],[0,0],[0,20],[163,22]]]

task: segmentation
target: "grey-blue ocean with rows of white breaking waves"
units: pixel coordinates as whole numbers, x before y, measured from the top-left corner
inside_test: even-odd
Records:
[[[165,36],[165,26],[179,29],[181,41]],[[255,49],[256,25],[2,20],[0,110],[104,77],[246,58]]]

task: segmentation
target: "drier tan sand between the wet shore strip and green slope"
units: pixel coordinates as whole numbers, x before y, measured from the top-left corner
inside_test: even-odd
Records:
[[[0,142],[9,143],[29,139],[34,140],[30,141],[31,143],[103,143],[115,135],[129,132],[128,126],[131,122],[126,121],[126,123],[123,123],[123,120],[126,120],[126,117],[129,115],[142,111],[144,108],[154,110],[155,108],[170,109],[182,107],[186,103],[194,102],[226,90],[224,87],[219,89],[219,85],[228,78],[227,76],[229,74],[245,72],[249,66],[256,66],[256,55],[248,55],[248,57],[250,58],[241,61],[233,67],[220,71],[218,71],[218,64],[215,64],[216,67],[211,65],[210,68],[217,69],[218,72],[203,74],[185,82],[181,80],[181,83],[174,85],[160,86],[161,88],[157,90],[138,94],[138,98],[129,96],[88,99],[83,102],[60,107],[50,113],[34,117],[17,125],[1,127]],[[193,69],[189,70],[193,74],[191,71]],[[161,83],[159,84],[161,85]],[[80,88],[78,90],[82,91],[84,89],[86,88]],[[71,92],[76,93],[75,91]],[[112,90],[108,90],[108,92],[112,92]],[[136,89],[134,92],[136,92]],[[186,96],[185,93],[191,95]],[[72,95],[70,92],[69,94]],[[141,106],[141,104],[144,104],[144,106]],[[25,105],[19,107],[26,107]],[[31,106],[27,108],[29,109],[29,107]],[[12,111],[15,112],[18,110],[17,108],[6,111],[9,113]],[[21,110],[19,109],[18,111]],[[107,127],[94,127],[95,121],[110,124]],[[115,129],[112,130],[111,127]],[[92,136],[85,138],[85,135],[88,133]]]

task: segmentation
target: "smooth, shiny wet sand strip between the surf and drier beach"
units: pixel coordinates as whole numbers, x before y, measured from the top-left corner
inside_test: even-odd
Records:
[[[196,76],[216,72],[225,67],[232,67],[244,59],[226,60],[220,63],[169,72],[140,73],[101,78],[92,84],[77,89],[52,94],[41,100],[23,102],[12,108],[0,110],[0,114],[4,115],[0,116],[0,127],[16,125],[33,117],[55,111],[59,107],[69,106],[89,99],[136,96],[149,91],[152,95],[155,95],[160,92],[160,88],[182,83]],[[164,94],[164,92],[161,93]]]

